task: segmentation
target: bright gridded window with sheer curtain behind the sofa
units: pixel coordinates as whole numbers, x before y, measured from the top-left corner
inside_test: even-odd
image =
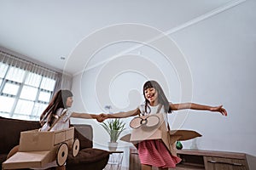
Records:
[[[55,71],[0,52],[0,116],[38,121],[56,81]]]

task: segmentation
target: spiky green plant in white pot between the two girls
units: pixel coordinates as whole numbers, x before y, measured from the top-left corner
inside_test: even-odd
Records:
[[[110,142],[108,142],[109,150],[116,150],[117,148],[117,140],[119,139],[120,133],[125,130],[125,122],[120,119],[112,119],[108,120],[108,122],[102,122],[102,127],[107,131],[110,137]]]

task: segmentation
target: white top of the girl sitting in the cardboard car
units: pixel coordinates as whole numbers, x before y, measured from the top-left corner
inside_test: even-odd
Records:
[[[65,116],[61,117],[61,120],[58,121],[55,124],[55,126],[50,129],[50,131],[63,130],[63,129],[69,128],[69,119],[70,119],[70,116],[73,113],[73,111],[71,111],[69,109],[60,108],[57,110],[56,115],[61,116],[61,114],[64,113],[64,111],[67,111]],[[41,128],[41,131],[47,131],[48,129],[49,129],[49,124],[44,123],[44,126]]]

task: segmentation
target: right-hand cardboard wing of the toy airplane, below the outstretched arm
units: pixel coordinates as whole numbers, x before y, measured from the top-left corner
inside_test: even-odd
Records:
[[[171,130],[170,134],[171,134],[171,137],[179,136],[180,138],[178,140],[181,140],[181,141],[195,139],[196,137],[201,137],[200,133],[197,133],[193,130]]]

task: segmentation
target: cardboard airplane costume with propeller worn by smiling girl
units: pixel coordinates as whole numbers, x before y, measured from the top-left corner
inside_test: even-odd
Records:
[[[121,140],[131,142],[137,147],[140,141],[160,139],[173,156],[177,156],[177,140],[183,141],[201,137],[200,133],[193,130],[170,130],[170,128],[166,126],[162,113],[149,116],[137,116],[131,120],[130,127],[133,128],[132,132],[123,136]]]

